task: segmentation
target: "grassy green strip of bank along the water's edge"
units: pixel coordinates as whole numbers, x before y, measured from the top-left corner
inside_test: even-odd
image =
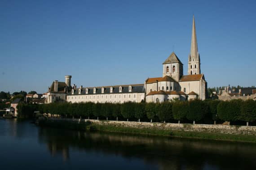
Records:
[[[208,132],[185,132],[185,131],[172,131],[154,128],[134,128],[134,127],[120,127],[112,125],[99,125],[90,122],[64,122],[64,121],[49,121],[44,120],[39,122],[40,126],[83,130],[83,131],[98,131],[98,132],[118,132],[125,134],[139,134],[139,135],[152,135],[152,136],[168,136],[180,138],[196,138],[204,140],[226,140],[237,142],[253,142],[256,143],[256,136],[253,135],[231,135],[223,133],[208,133]]]

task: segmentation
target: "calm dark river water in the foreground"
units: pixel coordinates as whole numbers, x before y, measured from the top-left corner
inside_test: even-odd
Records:
[[[0,119],[0,169],[256,170],[256,144],[64,131]]]

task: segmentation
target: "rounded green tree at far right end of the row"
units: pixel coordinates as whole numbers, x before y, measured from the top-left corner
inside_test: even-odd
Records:
[[[256,120],[256,102],[253,100],[244,101],[241,106],[241,119],[246,121],[247,126],[249,122]]]

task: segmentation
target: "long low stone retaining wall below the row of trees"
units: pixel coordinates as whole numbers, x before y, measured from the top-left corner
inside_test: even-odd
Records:
[[[99,125],[112,125],[120,127],[134,127],[134,128],[157,128],[164,130],[179,130],[187,132],[216,132],[225,134],[246,134],[256,135],[255,126],[233,126],[233,125],[210,125],[210,124],[178,124],[178,123],[150,123],[150,122],[127,122],[127,121],[106,121],[94,119],[64,119],[64,118],[49,118],[50,120],[58,121],[75,121],[85,122],[90,121]]]

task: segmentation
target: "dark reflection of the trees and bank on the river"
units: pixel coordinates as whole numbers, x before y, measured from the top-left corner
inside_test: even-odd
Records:
[[[124,134],[39,128],[39,139],[52,155],[69,158],[69,150],[139,158],[162,170],[256,169],[256,145]],[[113,160],[115,161],[115,160]]]

